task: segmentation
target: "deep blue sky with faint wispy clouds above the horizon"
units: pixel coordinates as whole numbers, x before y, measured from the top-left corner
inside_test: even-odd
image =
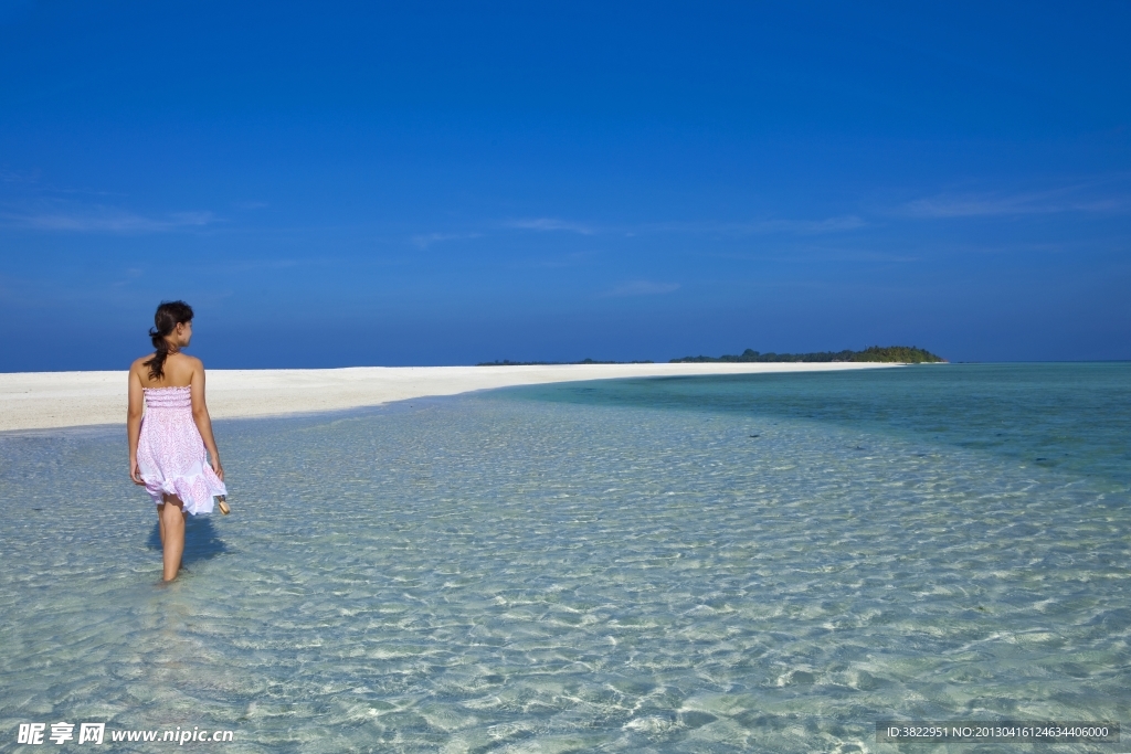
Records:
[[[0,0],[0,371],[1131,358],[1128,3]]]

